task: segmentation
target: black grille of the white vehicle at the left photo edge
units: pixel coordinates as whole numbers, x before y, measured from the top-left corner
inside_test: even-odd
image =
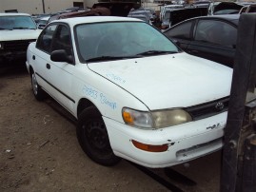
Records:
[[[34,42],[35,39],[26,39],[26,40],[15,40],[15,41],[4,41],[4,50],[8,51],[20,51],[27,50],[31,42]]]

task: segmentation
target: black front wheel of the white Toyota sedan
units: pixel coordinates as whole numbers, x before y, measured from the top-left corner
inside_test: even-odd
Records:
[[[112,151],[106,125],[96,107],[90,106],[79,115],[76,135],[92,161],[105,166],[113,166],[121,161]]]

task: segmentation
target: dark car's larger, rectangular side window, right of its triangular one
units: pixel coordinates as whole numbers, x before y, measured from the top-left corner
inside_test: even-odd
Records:
[[[233,48],[236,45],[237,29],[223,21],[201,20],[195,33],[196,41]]]

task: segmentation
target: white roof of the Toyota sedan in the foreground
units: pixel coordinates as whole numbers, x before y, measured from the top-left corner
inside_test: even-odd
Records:
[[[87,17],[73,17],[67,19],[54,20],[51,23],[64,22],[69,26],[75,26],[78,24],[90,24],[90,23],[107,23],[107,22],[119,22],[119,21],[137,21],[142,22],[136,18],[130,17],[118,17],[118,16],[87,16]]]

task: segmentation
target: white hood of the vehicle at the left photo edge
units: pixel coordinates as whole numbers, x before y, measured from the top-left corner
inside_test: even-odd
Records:
[[[0,41],[37,39],[41,31],[39,29],[0,30]]]

